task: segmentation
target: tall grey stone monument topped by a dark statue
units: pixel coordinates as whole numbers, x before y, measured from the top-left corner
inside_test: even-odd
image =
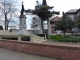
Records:
[[[18,31],[18,41],[21,41],[21,35],[27,35],[30,36],[30,33],[27,31],[27,27],[26,27],[26,16],[24,15],[24,5],[22,2],[22,9],[21,9],[21,14],[19,16],[19,31]]]

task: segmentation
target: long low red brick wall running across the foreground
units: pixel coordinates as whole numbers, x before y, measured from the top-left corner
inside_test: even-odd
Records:
[[[43,43],[0,40],[0,48],[59,58],[61,60],[80,60],[80,47],[50,45]]]

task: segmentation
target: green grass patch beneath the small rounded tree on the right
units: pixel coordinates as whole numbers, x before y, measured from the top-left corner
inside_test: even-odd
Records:
[[[69,36],[51,35],[50,38],[55,42],[80,42],[79,38],[70,38]]]

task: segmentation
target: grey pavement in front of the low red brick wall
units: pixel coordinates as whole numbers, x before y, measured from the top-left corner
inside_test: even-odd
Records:
[[[57,60],[0,48],[0,60]]]

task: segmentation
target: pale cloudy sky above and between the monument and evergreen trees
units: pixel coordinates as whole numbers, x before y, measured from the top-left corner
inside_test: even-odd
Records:
[[[23,1],[24,3],[24,8],[25,9],[34,9],[36,5],[37,0],[17,0],[17,5],[19,6],[19,9],[21,9],[21,2]],[[43,0],[38,0],[40,4],[42,4]],[[54,6],[53,10],[54,11],[60,11],[60,15],[62,15],[62,12],[67,12],[70,9],[79,9],[80,8],[80,0],[46,0],[47,5],[49,6]],[[30,28],[30,22],[31,18],[27,18],[27,25],[28,29]]]

